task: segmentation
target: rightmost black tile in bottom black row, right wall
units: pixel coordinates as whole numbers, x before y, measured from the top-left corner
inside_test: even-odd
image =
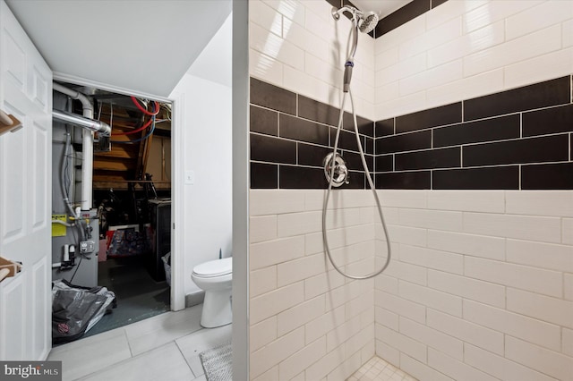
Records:
[[[522,190],[573,190],[573,163],[522,165]]]

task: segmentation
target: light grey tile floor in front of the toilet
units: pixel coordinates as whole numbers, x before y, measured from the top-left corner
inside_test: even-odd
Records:
[[[205,380],[199,353],[231,338],[231,325],[203,329],[202,305],[167,312],[54,348],[63,381]]]

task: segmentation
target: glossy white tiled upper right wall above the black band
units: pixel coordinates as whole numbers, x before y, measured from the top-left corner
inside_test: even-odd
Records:
[[[450,0],[376,38],[375,120],[573,72],[573,1]]]

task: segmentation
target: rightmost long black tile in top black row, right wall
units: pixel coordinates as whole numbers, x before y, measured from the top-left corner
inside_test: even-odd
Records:
[[[534,108],[567,104],[570,101],[570,80],[570,76],[562,77],[466,100],[464,101],[464,120],[471,121]]]

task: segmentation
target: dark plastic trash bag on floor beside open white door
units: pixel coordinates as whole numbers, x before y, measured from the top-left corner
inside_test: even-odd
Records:
[[[106,287],[81,287],[62,280],[52,289],[52,343],[69,343],[83,336],[115,308],[115,294]]]

